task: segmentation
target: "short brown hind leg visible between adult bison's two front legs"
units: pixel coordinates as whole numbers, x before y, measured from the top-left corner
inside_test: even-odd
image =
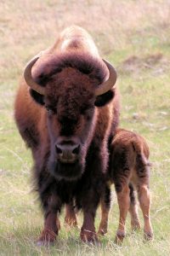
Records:
[[[65,205],[65,224],[77,227],[77,216],[72,201]]]

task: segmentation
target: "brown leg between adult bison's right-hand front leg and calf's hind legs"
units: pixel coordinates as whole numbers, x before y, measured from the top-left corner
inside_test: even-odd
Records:
[[[107,233],[108,217],[111,208],[111,189],[105,186],[105,193],[101,197],[101,221],[98,234],[104,236]]]

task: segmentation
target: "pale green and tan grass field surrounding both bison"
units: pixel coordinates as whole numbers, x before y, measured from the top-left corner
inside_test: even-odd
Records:
[[[6,0],[0,3],[0,13],[0,255],[169,255],[170,2]],[[26,61],[71,24],[86,28],[101,55],[115,65],[122,93],[121,126],[139,132],[150,145],[155,234],[150,243],[143,241],[142,230],[131,233],[127,218],[127,237],[122,247],[116,246],[114,198],[109,232],[100,247],[82,244],[79,231],[67,231],[64,225],[54,247],[35,244],[42,212],[31,192],[31,153],[14,124],[14,96]]]

